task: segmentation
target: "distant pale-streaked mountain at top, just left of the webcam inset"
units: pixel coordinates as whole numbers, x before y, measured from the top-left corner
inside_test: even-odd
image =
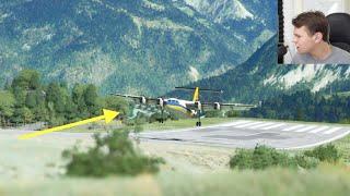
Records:
[[[184,0],[208,20],[234,29],[260,47],[277,32],[277,1]],[[269,9],[267,9],[269,8]]]

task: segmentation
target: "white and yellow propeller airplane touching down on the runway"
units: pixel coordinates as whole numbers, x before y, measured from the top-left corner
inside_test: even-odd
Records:
[[[162,119],[161,123],[164,122],[163,113],[164,108],[171,109],[172,111],[180,112],[189,118],[198,118],[196,122],[196,126],[201,126],[201,117],[203,114],[203,107],[212,107],[214,110],[221,110],[222,107],[243,107],[243,108],[256,108],[256,105],[243,105],[243,103],[221,103],[217,102],[201,102],[199,100],[199,87],[175,87],[176,89],[190,89],[194,90],[192,100],[184,100],[178,98],[151,98],[144,96],[133,96],[133,95],[122,95],[122,94],[112,94],[118,97],[132,98],[139,101],[141,105],[155,103],[161,108]],[[200,89],[200,91],[212,91],[222,94],[223,90],[214,90],[214,89]]]

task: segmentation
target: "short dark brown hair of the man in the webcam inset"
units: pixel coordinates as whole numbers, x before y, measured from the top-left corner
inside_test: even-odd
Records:
[[[323,40],[328,42],[328,20],[324,13],[319,11],[315,12],[303,12],[293,19],[292,24],[300,28],[305,26],[311,35],[314,35],[316,32],[322,33]]]

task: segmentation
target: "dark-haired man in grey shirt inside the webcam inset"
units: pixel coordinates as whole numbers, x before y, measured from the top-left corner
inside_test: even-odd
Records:
[[[292,64],[350,64],[350,53],[329,44],[329,25],[324,13],[301,13],[292,24],[298,50]]]

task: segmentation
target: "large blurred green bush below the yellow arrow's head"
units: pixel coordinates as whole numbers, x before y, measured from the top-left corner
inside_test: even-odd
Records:
[[[116,130],[104,137],[95,134],[95,146],[88,151],[79,150],[77,145],[65,150],[62,157],[69,159],[66,166],[67,175],[102,177],[158,172],[159,164],[164,163],[164,160],[141,155],[128,135],[127,130]]]

